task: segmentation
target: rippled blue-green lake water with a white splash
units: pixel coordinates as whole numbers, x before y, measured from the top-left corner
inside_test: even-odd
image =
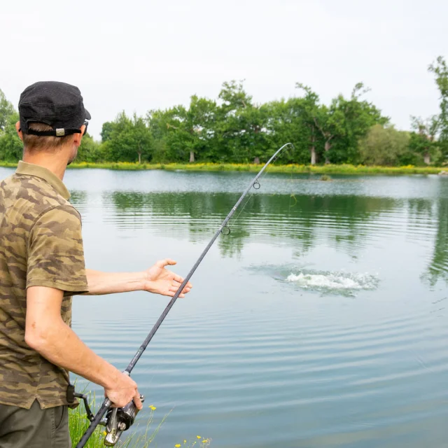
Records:
[[[185,275],[252,177],[70,170],[88,267],[170,257]],[[152,428],[170,412],[158,447],[447,446],[448,179],[318,179],[262,179],[134,369],[137,430],[147,405]],[[167,299],[73,302],[73,329],[124,369]]]

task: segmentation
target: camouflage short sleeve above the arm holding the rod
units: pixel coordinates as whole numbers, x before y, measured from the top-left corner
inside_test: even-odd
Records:
[[[30,232],[27,288],[30,286],[57,288],[64,295],[88,290],[80,216],[68,204],[40,216]]]

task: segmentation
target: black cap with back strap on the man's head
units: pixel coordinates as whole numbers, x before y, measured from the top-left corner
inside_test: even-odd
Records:
[[[19,115],[25,134],[56,137],[80,133],[85,120],[90,120],[78,87],[57,81],[40,81],[27,87],[20,95]],[[53,130],[29,130],[29,123],[45,123]]]

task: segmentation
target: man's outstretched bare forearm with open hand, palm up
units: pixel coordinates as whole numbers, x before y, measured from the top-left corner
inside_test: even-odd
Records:
[[[172,297],[181,286],[183,278],[165,269],[165,266],[175,264],[174,260],[167,258],[156,262],[153,267],[143,272],[100,272],[86,269],[89,292],[85,295],[129,293],[130,291],[144,290],[149,293]],[[179,297],[185,297],[190,288],[192,286],[188,282]]]

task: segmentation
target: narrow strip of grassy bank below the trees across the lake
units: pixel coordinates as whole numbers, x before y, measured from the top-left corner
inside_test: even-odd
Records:
[[[1,162],[0,167],[15,167],[17,164]],[[205,171],[205,172],[258,172],[262,165],[237,163],[130,163],[130,162],[80,162],[70,165],[70,169],[97,168],[139,171],[143,169],[166,169],[167,171]],[[448,172],[448,167],[367,167],[365,165],[270,165],[269,172],[274,173],[304,173],[304,174],[439,174]]]

